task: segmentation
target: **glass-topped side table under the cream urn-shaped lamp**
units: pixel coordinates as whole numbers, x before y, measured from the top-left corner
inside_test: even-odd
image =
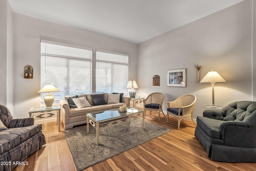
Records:
[[[31,109],[28,111],[28,113],[29,113],[29,117],[32,117],[34,115],[40,115],[44,112],[50,112],[50,111],[57,112],[57,124],[58,124],[59,131],[60,131],[60,106],[59,105],[52,105],[52,107],[45,107],[45,106],[31,107]]]

